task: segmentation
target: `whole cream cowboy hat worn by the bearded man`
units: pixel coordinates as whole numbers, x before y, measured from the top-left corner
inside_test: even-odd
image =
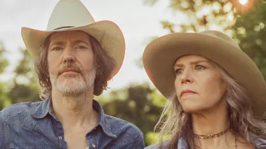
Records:
[[[87,8],[79,0],[60,0],[55,6],[47,30],[22,28],[23,41],[31,56],[35,56],[45,39],[53,32],[81,30],[99,41],[106,53],[116,61],[111,79],[121,68],[125,55],[125,40],[118,26],[109,21],[95,22]]]

